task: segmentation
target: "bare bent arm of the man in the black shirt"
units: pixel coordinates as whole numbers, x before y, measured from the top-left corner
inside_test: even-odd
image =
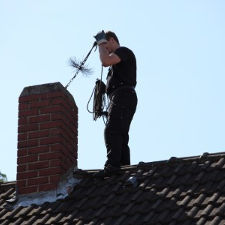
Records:
[[[118,55],[115,53],[109,54],[108,50],[105,48],[104,44],[99,45],[99,55],[102,65],[104,67],[117,64],[121,61]]]

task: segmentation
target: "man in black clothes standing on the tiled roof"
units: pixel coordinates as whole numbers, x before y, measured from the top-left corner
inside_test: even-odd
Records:
[[[109,67],[106,94],[110,102],[104,131],[107,161],[101,172],[110,176],[130,165],[129,129],[137,106],[136,58],[129,48],[120,46],[112,31],[101,31],[95,38],[101,63]]]

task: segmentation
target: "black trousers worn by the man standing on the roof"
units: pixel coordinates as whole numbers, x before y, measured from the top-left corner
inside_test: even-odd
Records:
[[[136,111],[137,95],[134,89],[122,88],[110,96],[108,119],[105,127],[107,158],[113,167],[130,165],[129,128]]]

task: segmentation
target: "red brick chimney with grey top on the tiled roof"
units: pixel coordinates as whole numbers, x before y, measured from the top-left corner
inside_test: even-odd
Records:
[[[19,97],[17,194],[57,189],[77,166],[78,109],[61,83],[26,87]]]

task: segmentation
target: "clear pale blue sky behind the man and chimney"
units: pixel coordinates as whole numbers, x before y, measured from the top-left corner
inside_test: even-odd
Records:
[[[0,0],[0,170],[16,179],[18,97],[26,86],[73,76],[98,31],[114,31],[137,58],[131,162],[225,151],[223,0]],[[78,166],[103,168],[104,123],[86,104],[100,77],[98,52],[68,90],[79,108]],[[104,79],[107,69],[104,69]]]

